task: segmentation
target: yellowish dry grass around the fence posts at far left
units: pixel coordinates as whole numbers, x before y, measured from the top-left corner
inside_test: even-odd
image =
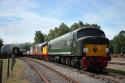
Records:
[[[8,62],[7,59],[4,59],[3,83],[29,83],[28,80],[22,79],[22,75],[23,75],[23,71],[25,70],[25,67],[21,60],[16,59],[14,69],[13,71],[10,71],[9,77],[7,77],[7,62]]]

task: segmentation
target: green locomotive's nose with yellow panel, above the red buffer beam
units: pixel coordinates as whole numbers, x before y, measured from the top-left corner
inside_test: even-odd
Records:
[[[106,56],[109,40],[104,37],[90,36],[81,39],[82,49],[86,56]],[[86,50],[87,49],[87,50]]]

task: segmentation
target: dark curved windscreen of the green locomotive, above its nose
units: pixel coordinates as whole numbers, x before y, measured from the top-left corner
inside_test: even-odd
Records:
[[[77,32],[77,38],[81,38],[84,36],[102,36],[105,37],[105,34],[103,31],[99,29],[94,29],[94,28],[85,28],[81,29]]]

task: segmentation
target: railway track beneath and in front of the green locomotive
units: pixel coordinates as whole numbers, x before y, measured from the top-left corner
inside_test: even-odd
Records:
[[[70,68],[70,66],[65,66],[62,64],[58,64],[58,63],[53,63],[59,66],[63,66],[65,68]],[[75,69],[75,68],[74,68]],[[78,69],[76,69],[77,72],[79,72]],[[92,78],[96,78],[99,80],[103,80],[105,83],[125,83],[125,76],[124,75],[120,75],[120,74],[116,74],[116,73],[112,73],[109,72],[108,70],[106,70],[106,72],[90,72],[90,71],[82,71],[80,73],[86,74]]]

